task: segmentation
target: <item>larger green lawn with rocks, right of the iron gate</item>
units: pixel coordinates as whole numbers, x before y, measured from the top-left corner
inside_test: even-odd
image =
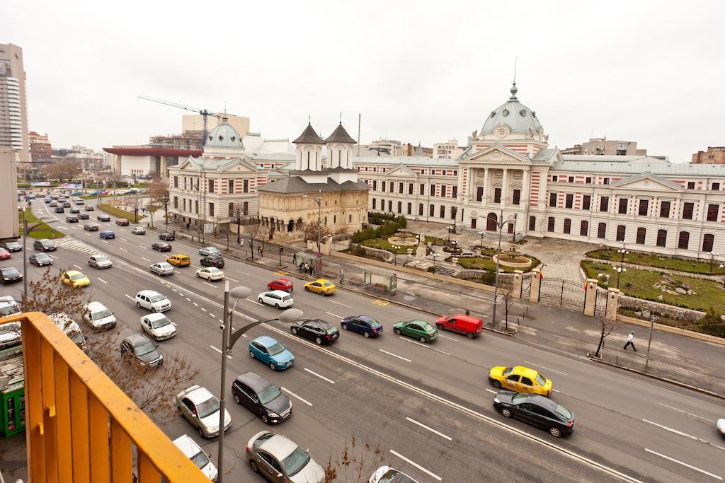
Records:
[[[589,278],[597,278],[597,274],[609,274],[609,286],[617,286],[617,273],[614,267],[608,264],[598,264],[592,261],[582,261],[581,268]],[[716,314],[725,314],[725,290],[722,288],[721,282],[713,282],[711,280],[702,280],[694,277],[679,277],[668,275],[676,284],[687,283],[689,287],[697,293],[697,295],[680,295],[662,292],[655,288],[662,280],[660,272],[651,272],[650,270],[627,269],[626,273],[621,274],[619,281],[619,290],[626,295],[632,297],[644,298],[649,301],[668,303],[674,306],[685,308],[694,308],[700,311],[709,311],[712,309]],[[600,286],[607,287],[600,279]],[[674,287],[670,286],[671,290]],[[658,300],[658,295],[662,295],[662,300]]]

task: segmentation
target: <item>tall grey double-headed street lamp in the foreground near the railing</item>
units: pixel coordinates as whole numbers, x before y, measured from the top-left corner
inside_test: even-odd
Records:
[[[236,331],[232,332],[232,316],[234,314],[234,311],[236,311],[236,304],[239,302],[239,299],[247,298],[250,293],[252,293],[252,290],[249,290],[249,288],[247,287],[234,287],[230,291],[228,280],[224,282],[224,323],[222,324],[222,374],[219,398],[219,456],[217,460],[218,483],[222,483],[222,480],[224,479],[224,419],[226,412],[226,361],[228,353],[231,351],[231,348],[234,347],[234,343],[239,340],[239,337],[241,337],[244,332],[247,332],[247,330],[252,329],[252,327],[256,327],[259,324],[264,324],[265,322],[272,322],[274,320],[289,323],[294,322],[295,320],[298,320],[300,317],[302,317],[302,311],[299,310],[299,308],[288,308],[286,311],[283,311],[279,316],[273,317],[272,319],[264,319],[258,320],[256,322],[250,322],[249,324],[240,327],[239,329],[236,329]],[[236,299],[234,301],[234,306],[231,310],[228,310],[229,295]]]

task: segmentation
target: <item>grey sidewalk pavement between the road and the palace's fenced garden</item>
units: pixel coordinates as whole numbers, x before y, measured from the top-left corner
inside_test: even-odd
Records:
[[[170,227],[171,229],[171,227]],[[176,230],[177,234],[183,230]],[[192,232],[194,234],[194,232]],[[240,248],[236,245],[236,236],[230,240],[230,250],[240,259],[250,259],[249,247]],[[207,239],[205,245],[217,245],[225,251],[226,240],[219,238],[216,243]],[[233,246],[232,246],[233,245]],[[265,241],[264,256],[260,258],[256,251],[254,263],[262,264],[271,269],[285,269],[293,272],[296,277],[305,277],[297,273],[292,257],[297,251],[305,251],[302,247],[285,246],[282,256],[283,265],[279,265],[279,245]],[[504,323],[505,310],[502,298],[499,298],[497,322],[491,320],[493,293],[485,290],[474,290],[460,285],[444,285],[418,274],[397,272],[397,292],[389,295],[374,288],[362,287],[362,273],[365,269],[376,272],[384,271],[378,266],[360,261],[347,261],[335,256],[323,256],[323,276],[342,287],[357,290],[378,298],[386,298],[394,303],[402,303],[418,308],[430,314],[456,314],[471,311],[471,315],[479,316],[489,329],[497,329]],[[389,272],[396,272],[391,264]],[[340,282],[340,274],[344,280]],[[312,278],[312,277],[307,277]],[[595,353],[600,340],[600,320],[585,316],[581,312],[569,311],[564,308],[544,306],[528,301],[516,301],[510,308],[508,325],[517,329],[513,338],[521,343],[537,346],[576,358],[587,358],[587,353]],[[634,330],[634,344],[637,352],[624,350],[626,335]],[[645,369],[647,338],[649,329],[634,324],[618,324],[615,331],[605,338],[600,352],[602,361],[608,364],[632,369],[683,385],[694,386],[716,392],[725,398],[725,345],[718,345],[692,337],[659,332],[655,329],[650,348],[650,360]],[[499,335],[492,334],[493,337]],[[505,337],[501,335],[500,337]]]

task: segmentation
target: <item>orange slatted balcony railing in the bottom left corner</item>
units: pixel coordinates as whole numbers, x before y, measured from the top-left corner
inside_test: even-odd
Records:
[[[209,482],[45,314],[7,322],[22,323],[31,483]]]

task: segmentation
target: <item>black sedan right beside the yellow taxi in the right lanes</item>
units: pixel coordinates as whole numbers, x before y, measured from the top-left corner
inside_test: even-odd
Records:
[[[546,429],[553,437],[574,430],[574,413],[542,395],[504,390],[494,396],[494,408],[507,418]]]

